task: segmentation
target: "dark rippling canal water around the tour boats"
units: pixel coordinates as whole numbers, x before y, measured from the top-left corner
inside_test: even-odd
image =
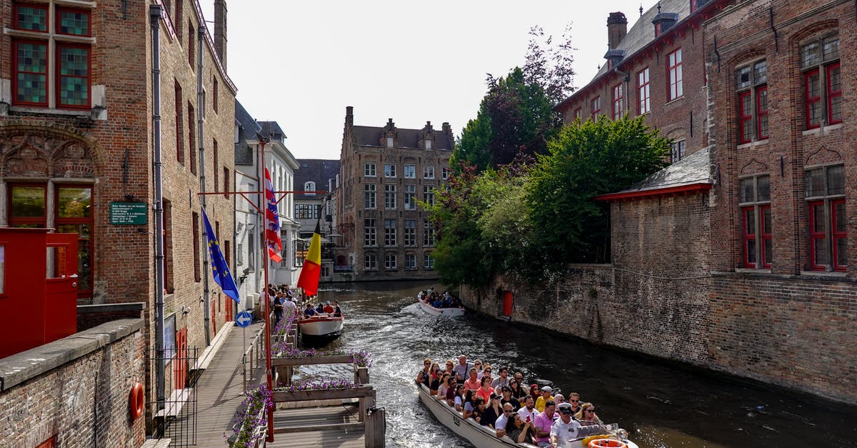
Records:
[[[620,353],[545,330],[475,313],[428,316],[415,303],[431,283],[328,285],[321,300],[339,300],[345,331],[324,349],[367,349],[387,409],[387,446],[467,447],[417,397],[423,358],[487,361],[523,372],[528,384],[576,391],[605,422],[618,422],[643,447],[857,447],[857,408],[788,390],[746,384],[659,360]],[[652,335],[652,337],[657,337]],[[443,366],[443,362],[440,362]],[[353,378],[351,366],[304,366],[298,378]],[[857,384],[855,384],[857,387]]]

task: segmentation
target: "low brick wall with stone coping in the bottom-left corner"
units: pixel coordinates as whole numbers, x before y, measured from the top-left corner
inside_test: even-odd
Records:
[[[145,383],[142,328],[112,321],[0,360],[0,446],[142,445],[145,418],[129,413],[132,385]]]

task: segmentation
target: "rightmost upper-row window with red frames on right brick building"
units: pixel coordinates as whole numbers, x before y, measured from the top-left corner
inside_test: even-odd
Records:
[[[842,123],[842,79],[839,74],[839,35],[800,45],[806,102],[806,129]]]

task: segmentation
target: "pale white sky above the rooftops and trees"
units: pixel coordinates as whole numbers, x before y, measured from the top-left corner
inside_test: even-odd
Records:
[[[213,33],[213,0],[200,0]],[[656,0],[227,0],[226,62],[251,116],[276,121],[298,159],[339,159],[345,106],[354,124],[435,130],[456,136],[476,118],[490,73],[524,64],[528,31],[560,41],[571,26],[574,85],[604,63],[607,17]]]

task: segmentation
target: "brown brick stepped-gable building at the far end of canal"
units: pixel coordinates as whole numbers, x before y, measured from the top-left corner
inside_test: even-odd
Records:
[[[444,123],[434,130],[357,126],[345,109],[342,188],[335,269],[353,280],[436,278],[434,223],[417,203],[434,203],[449,177],[454,137]]]

